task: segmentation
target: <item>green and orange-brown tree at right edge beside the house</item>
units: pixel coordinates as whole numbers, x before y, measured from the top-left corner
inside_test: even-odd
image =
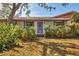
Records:
[[[77,12],[73,13],[70,21],[71,23],[68,26],[71,28],[71,32],[74,35],[79,36],[79,13]]]

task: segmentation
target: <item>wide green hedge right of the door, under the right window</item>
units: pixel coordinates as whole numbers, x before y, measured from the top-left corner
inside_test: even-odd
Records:
[[[45,36],[46,37],[67,37],[70,32],[71,28],[68,26],[48,26],[45,28]],[[72,34],[72,33],[71,33]]]

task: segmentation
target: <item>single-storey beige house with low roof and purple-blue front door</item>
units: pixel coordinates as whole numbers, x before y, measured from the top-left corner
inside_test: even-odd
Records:
[[[45,26],[64,25],[70,20],[74,13],[77,12],[71,11],[53,17],[14,17],[13,22],[21,27],[34,26],[37,35],[44,35]],[[7,20],[1,19],[0,22],[7,22]]]

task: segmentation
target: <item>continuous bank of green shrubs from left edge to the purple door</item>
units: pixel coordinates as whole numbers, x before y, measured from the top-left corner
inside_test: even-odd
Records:
[[[21,46],[22,39],[35,40],[36,34],[33,27],[20,28],[17,25],[0,24],[0,50],[7,50],[14,46]]]

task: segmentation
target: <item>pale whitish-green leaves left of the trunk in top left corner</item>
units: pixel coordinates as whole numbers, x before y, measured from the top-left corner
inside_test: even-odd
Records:
[[[11,12],[11,4],[0,4],[0,18],[6,18]]]

